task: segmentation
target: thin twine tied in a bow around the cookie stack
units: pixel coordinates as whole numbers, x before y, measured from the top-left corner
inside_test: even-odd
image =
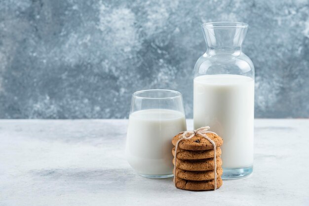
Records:
[[[196,130],[193,130],[193,131],[186,131],[182,134],[182,136],[180,137],[180,139],[177,141],[176,143],[176,146],[175,146],[175,157],[174,157],[174,160],[175,160],[175,165],[174,165],[174,183],[175,183],[175,186],[176,186],[176,156],[177,156],[177,148],[178,148],[178,144],[179,142],[181,142],[183,139],[191,139],[192,137],[194,137],[195,135],[200,135],[204,138],[206,138],[208,141],[210,141],[214,147],[214,166],[215,166],[215,169],[214,169],[214,174],[215,174],[215,188],[214,190],[217,189],[217,155],[216,155],[216,143],[211,139],[209,138],[206,134],[207,133],[212,133],[212,134],[215,134],[217,135],[216,133],[214,132],[209,132],[208,130],[210,129],[210,127],[201,127],[201,128],[198,128]],[[189,137],[187,137],[189,135]]]

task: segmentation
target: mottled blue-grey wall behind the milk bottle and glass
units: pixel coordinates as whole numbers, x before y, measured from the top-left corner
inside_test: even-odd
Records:
[[[0,0],[0,118],[126,118],[151,88],[192,117],[210,21],[249,24],[256,117],[309,117],[309,0]]]

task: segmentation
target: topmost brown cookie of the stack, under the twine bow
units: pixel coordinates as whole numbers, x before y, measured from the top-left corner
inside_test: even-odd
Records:
[[[172,143],[174,146],[176,146],[177,141],[181,138],[182,134],[183,133],[180,133],[176,135],[175,137],[173,137]],[[219,137],[218,135],[208,133],[207,136],[216,143],[217,147],[220,147],[223,144],[223,139]],[[190,139],[181,140],[178,144],[178,148],[194,151],[194,150],[209,150],[209,149],[213,149],[214,147],[208,139],[197,134]]]

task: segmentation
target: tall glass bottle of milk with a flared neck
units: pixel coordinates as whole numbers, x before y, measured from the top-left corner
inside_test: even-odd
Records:
[[[238,22],[202,24],[207,50],[194,67],[194,129],[210,126],[223,138],[224,179],[253,171],[254,66],[241,51],[247,28]]]

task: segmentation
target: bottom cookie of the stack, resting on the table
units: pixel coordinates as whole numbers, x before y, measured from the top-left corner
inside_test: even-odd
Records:
[[[201,190],[214,190],[215,182],[214,180],[206,181],[193,181],[185,180],[179,177],[174,178],[175,185],[177,188],[182,190],[192,190],[192,191],[201,191]],[[221,177],[217,178],[217,189],[220,188],[223,184]]]

